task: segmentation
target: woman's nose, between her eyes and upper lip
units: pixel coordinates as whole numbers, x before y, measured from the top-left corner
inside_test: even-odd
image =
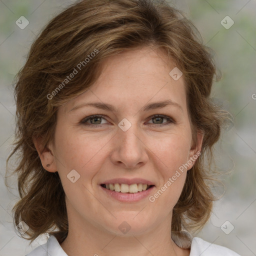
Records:
[[[147,147],[143,142],[142,132],[135,121],[120,122],[113,141],[110,159],[113,164],[127,169],[141,167],[148,160]],[[128,129],[121,124],[128,125]],[[131,125],[130,125],[131,124]],[[123,127],[124,127],[123,125]]]

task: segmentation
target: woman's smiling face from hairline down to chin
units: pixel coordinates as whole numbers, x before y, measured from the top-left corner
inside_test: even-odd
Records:
[[[69,223],[119,235],[170,226],[184,166],[200,150],[174,67],[161,51],[129,50],[107,59],[93,86],[58,109],[52,155],[41,159],[59,173]]]

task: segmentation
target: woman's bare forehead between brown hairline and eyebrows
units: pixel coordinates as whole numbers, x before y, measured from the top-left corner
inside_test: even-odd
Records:
[[[140,47],[102,62],[102,73],[84,93],[66,103],[66,111],[85,101],[102,101],[116,108],[141,107],[147,102],[171,99],[186,108],[182,76],[174,80],[175,67],[159,49]]]

